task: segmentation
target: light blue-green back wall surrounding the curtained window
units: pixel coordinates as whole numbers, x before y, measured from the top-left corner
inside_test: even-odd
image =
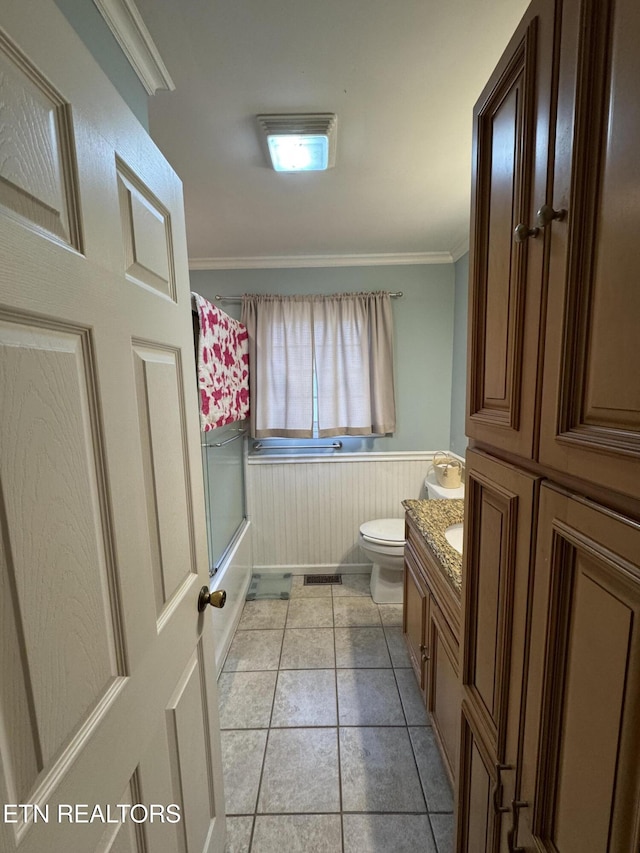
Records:
[[[392,300],[395,333],[397,428],[389,438],[357,449],[439,450],[449,446],[453,363],[453,264],[321,267],[265,270],[192,270],[191,286],[210,301],[216,294],[339,293],[401,290]],[[231,316],[240,306],[221,303]]]

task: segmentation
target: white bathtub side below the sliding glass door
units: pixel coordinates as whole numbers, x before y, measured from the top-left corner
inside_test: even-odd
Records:
[[[251,582],[251,523],[246,521],[227,554],[224,562],[211,578],[209,588],[224,589],[227,600],[222,609],[207,608],[213,620],[213,635],[216,654],[216,678],[229,651],[231,640],[238,627],[249,583]]]

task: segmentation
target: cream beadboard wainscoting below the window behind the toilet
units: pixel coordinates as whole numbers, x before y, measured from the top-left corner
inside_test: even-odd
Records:
[[[363,572],[364,521],[403,518],[424,497],[432,452],[249,457],[247,499],[254,571]]]

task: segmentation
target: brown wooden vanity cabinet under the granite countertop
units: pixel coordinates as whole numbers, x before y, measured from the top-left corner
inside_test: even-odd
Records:
[[[460,733],[460,596],[407,515],[403,631],[452,784]]]

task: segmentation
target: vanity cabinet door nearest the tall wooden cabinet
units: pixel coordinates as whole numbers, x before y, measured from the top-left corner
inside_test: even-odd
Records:
[[[455,785],[460,741],[460,681],[458,642],[442,611],[431,601],[429,609],[429,678],[427,709],[440,742],[445,767]]]

